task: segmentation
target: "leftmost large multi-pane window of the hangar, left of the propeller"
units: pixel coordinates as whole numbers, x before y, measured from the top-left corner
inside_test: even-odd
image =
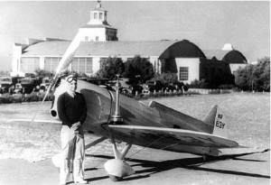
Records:
[[[35,69],[40,69],[39,57],[22,57],[20,69],[23,72],[34,72]]]

